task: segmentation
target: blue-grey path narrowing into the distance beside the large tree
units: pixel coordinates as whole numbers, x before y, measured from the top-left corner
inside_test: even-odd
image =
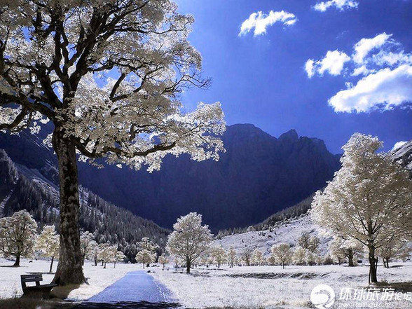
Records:
[[[163,284],[153,280],[144,270],[137,270],[126,274],[76,309],[171,308],[176,307],[174,301]]]

